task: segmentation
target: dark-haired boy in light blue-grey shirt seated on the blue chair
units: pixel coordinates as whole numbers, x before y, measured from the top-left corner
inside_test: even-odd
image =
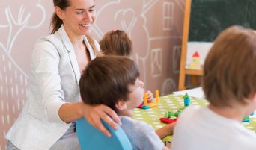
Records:
[[[133,149],[168,149],[159,137],[172,134],[174,124],[155,132],[150,125],[132,119],[132,109],[141,104],[144,96],[143,82],[138,77],[138,67],[128,57],[97,57],[79,81],[82,100],[85,104],[106,104],[115,110]]]

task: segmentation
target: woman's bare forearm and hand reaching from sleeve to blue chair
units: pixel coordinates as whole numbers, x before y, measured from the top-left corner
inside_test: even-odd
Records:
[[[100,122],[100,119],[103,119],[114,129],[118,128],[118,126],[115,125],[115,122],[121,124],[121,121],[115,111],[103,104],[91,106],[84,104],[82,101],[76,103],[65,103],[61,105],[58,114],[64,122],[73,122],[76,119],[85,117],[91,125],[102,131],[107,137],[110,137],[111,134]]]

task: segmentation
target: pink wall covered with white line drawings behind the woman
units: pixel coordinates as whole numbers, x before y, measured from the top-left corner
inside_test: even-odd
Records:
[[[93,37],[121,29],[132,39],[147,90],[162,95],[177,90],[185,0],[97,0]],[[27,96],[29,60],[38,37],[49,34],[52,1],[1,0],[0,4],[0,150],[4,135]]]

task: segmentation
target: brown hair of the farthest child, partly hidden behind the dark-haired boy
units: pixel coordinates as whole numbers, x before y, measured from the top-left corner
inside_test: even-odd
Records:
[[[132,41],[124,31],[109,31],[100,41],[100,49],[106,55],[129,56],[132,52]]]

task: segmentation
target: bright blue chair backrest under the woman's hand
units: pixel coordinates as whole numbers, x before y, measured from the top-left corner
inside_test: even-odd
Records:
[[[112,134],[111,137],[106,137],[105,134],[94,128],[83,118],[76,120],[76,134],[82,150],[132,150],[132,145],[120,126],[118,126],[117,130],[114,130],[103,120],[102,122]]]

